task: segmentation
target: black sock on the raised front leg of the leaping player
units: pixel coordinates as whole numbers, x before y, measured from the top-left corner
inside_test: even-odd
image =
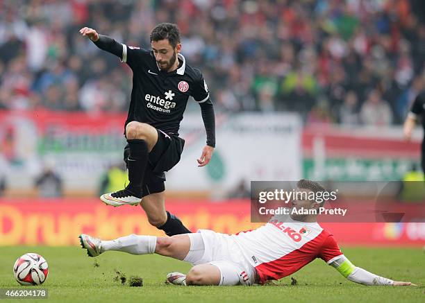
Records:
[[[129,139],[127,142],[130,146],[130,155],[128,156],[128,180],[130,184],[126,188],[136,197],[142,198],[143,177],[149,151],[146,141],[142,139]]]

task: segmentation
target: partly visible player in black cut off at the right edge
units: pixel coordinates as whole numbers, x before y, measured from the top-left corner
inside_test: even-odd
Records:
[[[419,118],[421,119],[422,127],[424,128],[424,139],[422,139],[421,164],[422,171],[424,171],[425,174],[425,91],[422,91],[416,96],[415,101],[413,101],[410,112],[406,118],[406,121],[404,121],[403,132],[406,140],[410,140],[410,137],[412,137],[412,131],[413,128],[415,128],[415,122]]]

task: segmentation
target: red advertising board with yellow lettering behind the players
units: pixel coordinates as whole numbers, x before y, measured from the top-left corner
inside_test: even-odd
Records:
[[[190,230],[235,233],[256,228],[249,201],[219,203],[168,200]],[[425,223],[322,223],[341,245],[425,245]],[[108,207],[96,199],[0,200],[0,245],[77,245],[78,234],[103,239],[163,232],[149,225],[140,207]]]

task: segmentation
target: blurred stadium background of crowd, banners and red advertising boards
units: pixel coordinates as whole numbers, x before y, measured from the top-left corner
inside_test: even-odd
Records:
[[[167,208],[192,229],[238,232],[255,226],[250,180],[419,169],[422,130],[403,141],[401,123],[424,88],[424,19],[419,0],[0,1],[0,245],[160,234],[141,209],[97,198],[120,176],[131,71],[81,27],[149,48],[153,26],[178,24],[215,103],[217,148],[197,168],[205,135],[190,103]],[[425,241],[423,223],[326,226],[342,245]]]

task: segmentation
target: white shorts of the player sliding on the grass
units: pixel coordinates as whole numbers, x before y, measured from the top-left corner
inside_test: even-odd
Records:
[[[190,250],[185,261],[198,264],[212,264],[220,270],[220,284],[253,285],[256,281],[256,269],[244,259],[238,244],[228,234],[212,230],[198,230],[188,234]]]

